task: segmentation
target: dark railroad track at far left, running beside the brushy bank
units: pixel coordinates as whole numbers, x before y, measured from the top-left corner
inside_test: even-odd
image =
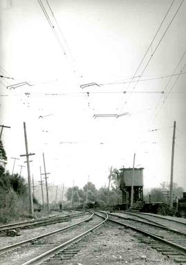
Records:
[[[7,235],[14,236],[17,235],[17,231],[20,231],[21,229],[28,229],[30,227],[38,227],[38,226],[46,226],[49,224],[56,224],[57,222],[66,222],[72,218],[79,217],[81,215],[85,215],[85,211],[81,211],[78,213],[72,213],[67,215],[53,215],[46,218],[39,218],[37,220],[29,220],[29,221],[23,221],[23,222],[17,222],[14,224],[6,224],[3,226],[0,226],[0,233],[7,233]]]

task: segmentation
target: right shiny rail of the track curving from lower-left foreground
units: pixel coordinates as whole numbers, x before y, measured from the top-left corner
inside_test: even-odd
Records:
[[[92,214],[94,215],[96,213],[92,213]],[[68,245],[70,245],[76,241],[79,241],[85,235],[87,235],[88,233],[92,232],[93,230],[99,228],[99,226],[101,226],[104,222],[106,222],[108,220],[108,215],[107,215],[107,213],[105,213],[105,215],[106,215],[106,218],[104,218],[103,216],[100,216],[104,220],[102,222],[100,222],[99,224],[96,224],[96,226],[93,226],[91,229],[88,229],[87,231],[81,233],[80,235],[77,235],[76,237],[72,238],[71,240],[68,240],[67,242],[64,242],[63,244],[60,244],[59,246],[56,246],[56,247],[50,249],[50,251],[46,251],[45,253],[42,253],[41,255],[34,257],[33,259],[30,259],[30,260],[28,260],[28,262],[25,262],[21,265],[29,265],[29,264],[33,264],[34,262],[38,262],[39,260],[41,260],[43,258],[47,258],[50,254],[58,251],[60,248],[64,248],[65,246],[68,246]]]

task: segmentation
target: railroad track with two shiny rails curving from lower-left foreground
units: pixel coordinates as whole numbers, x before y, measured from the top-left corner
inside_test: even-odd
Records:
[[[71,226],[1,248],[1,262],[3,265],[12,263],[14,265],[28,265],[44,262],[45,259],[52,259],[52,264],[55,264],[54,259],[59,259],[59,256],[63,256],[64,249],[79,242],[83,237],[101,226],[105,220],[107,220],[106,213],[105,218],[91,213],[88,218],[84,218],[81,222],[76,222]],[[17,248],[16,255],[14,255],[15,247]],[[73,250],[70,251],[73,252]],[[47,264],[50,264],[50,260]]]

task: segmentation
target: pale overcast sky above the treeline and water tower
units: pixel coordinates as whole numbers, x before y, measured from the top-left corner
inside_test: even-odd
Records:
[[[14,173],[25,165],[25,122],[35,182],[43,152],[48,182],[68,187],[73,180],[83,187],[88,176],[101,187],[111,166],[132,167],[136,153],[145,187],[158,187],[170,179],[175,120],[174,182],[186,190],[185,1],[1,0],[0,6],[0,118],[11,127],[2,135],[10,172],[11,158],[20,159]],[[28,84],[9,87],[22,82]],[[87,83],[97,85],[82,87]]]

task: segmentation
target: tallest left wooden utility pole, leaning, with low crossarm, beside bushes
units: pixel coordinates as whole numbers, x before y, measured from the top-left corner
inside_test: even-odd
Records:
[[[31,179],[30,179],[30,163],[29,163],[29,156],[33,156],[34,153],[28,153],[28,141],[27,141],[27,134],[26,134],[26,127],[25,127],[25,122],[23,123],[23,128],[24,128],[24,136],[25,136],[25,155],[20,155],[20,156],[25,156],[26,161],[27,161],[27,170],[28,170],[28,193],[29,193],[29,201],[30,201],[30,214],[34,214],[34,209],[33,209],[33,200],[32,200],[32,187],[31,187]]]

